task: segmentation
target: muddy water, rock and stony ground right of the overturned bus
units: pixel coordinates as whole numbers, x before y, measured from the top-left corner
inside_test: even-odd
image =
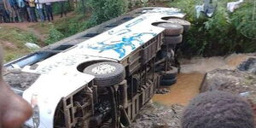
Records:
[[[130,127],[180,128],[183,109],[193,97],[201,93],[201,84],[207,84],[211,80],[219,82],[218,84],[214,83],[214,85],[228,84],[229,87],[223,86],[223,88],[220,88],[242,94],[250,99],[249,101],[252,102],[252,108],[256,115],[256,93],[254,93],[254,90],[256,90],[256,76],[236,71],[236,67],[241,61],[246,61],[252,55],[255,54],[232,54],[225,57],[196,57],[191,60],[181,60],[182,73],[178,74],[177,83],[166,87],[169,92],[154,95],[153,102],[148,103],[148,107],[143,109]],[[204,77],[205,73],[208,73],[208,77]],[[214,76],[217,79],[212,79]],[[228,79],[220,80],[219,76]],[[205,81],[203,81],[204,78]],[[223,83],[223,81],[226,82]],[[212,85],[209,84],[209,86]]]

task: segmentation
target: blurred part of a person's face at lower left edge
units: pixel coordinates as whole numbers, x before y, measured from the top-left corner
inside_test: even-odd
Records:
[[[3,80],[3,49],[0,47],[0,128],[20,128],[32,115],[31,106]]]

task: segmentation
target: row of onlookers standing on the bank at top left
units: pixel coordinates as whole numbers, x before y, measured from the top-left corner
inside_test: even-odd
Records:
[[[66,15],[61,3],[61,16]],[[64,10],[64,11],[63,11]],[[38,22],[54,20],[52,3],[40,3],[40,0],[0,0],[0,23]]]

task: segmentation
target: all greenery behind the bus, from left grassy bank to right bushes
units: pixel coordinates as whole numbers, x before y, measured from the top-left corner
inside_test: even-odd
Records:
[[[217,2],[217,0],[213,0]],[[202,0],[173,0],[172,2],[159,3],[155,6],[169,6],[182,9],[187,14],[186,20],[192,23],[189,32],[184,33],[182,46],[183,55],[225,55],[232,52],[256,51],[256,23],[253,20],[253,0],[245,1],[241,8],[230,13],[226,3],[234,0],[218,1],[218,8],[212,18],[201,15],[195,17],[195,5],[202,4]],[[67,17],[59,18],[60,4],[54,4],[55,20],[47,23],[37,23],[28,28],[15,28],[15,26],[0,27],[0,43],[5,49],[5,61],[11,61],[20,55],[30,52],[24,44],[36,43],[40,46],[55,43],[62,38],[67,38],[82,32],[91,26],[96,26],[106,20],[117,17],[127,9],[142,6],[154,6],[149,1],[141,3],[125,3],[126,0],[88,0],[79,1],[79,8],[73,9],[72,3],[65,3],[68,11]],[[85,14],[84,14],[85,10]],[[254,17],[256,20],[256,16]],[[41,36],[40,36],[41,35]],[[19,49],[19,50],[17,50]]]

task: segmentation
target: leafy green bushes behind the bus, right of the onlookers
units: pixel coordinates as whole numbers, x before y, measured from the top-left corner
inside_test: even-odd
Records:
[[[62,38],[67,38],[91,26],[113,19],[126,10],[125,0],[89,0],[88,3],[85,3],[86,15],[84,15],[84,9],[82,9],[84,8],[82,1],[79,1],[78,5],[79,8],[73,12],[74,16],[59,20],[50,26],[49,37],[45,41],[46,44],[55,43]],[[66,3],[65,6],[69,7],[70,3]],[[54,10],[55,14],[60,14],[60,5],[55,4]]]

